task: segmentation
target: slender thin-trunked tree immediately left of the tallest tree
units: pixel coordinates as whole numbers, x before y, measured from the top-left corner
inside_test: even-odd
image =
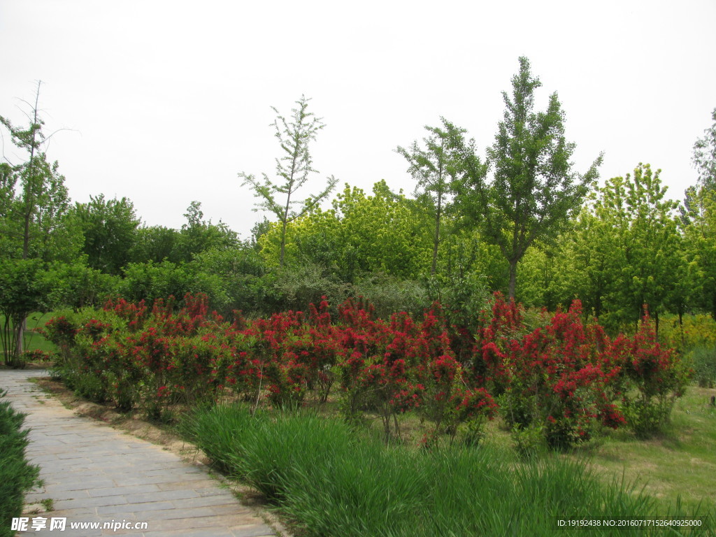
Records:
[[[410,150],[400,146],[396,150],[410,163],[408,173],[417,181],[415,195],[426,198],[431,207],[434,227],[430,274],[433,276],[437,266],[437,251],[440,247],[442,216],[448,205],[451,184],[458,175],[460,165],[455,158],[453,147],[467,132],[465,129],[455,127],[445,120],[445,117],[441,117],[440,120],[442,127],[425,125],[425,130],[430,132],[428,137],[422,139],[425,142],[425,149],[422,149],[416,141],[412,143]]]

